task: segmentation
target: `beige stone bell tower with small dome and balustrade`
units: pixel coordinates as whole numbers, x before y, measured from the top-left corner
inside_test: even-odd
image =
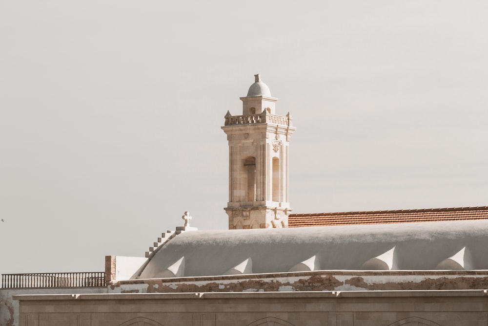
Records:
[[[227,111],[222,127],[229,141],[229,229],[286,227],[288,144],[296,128],[290,114],[275,114],[277,98],[254,75],[242,115]]]

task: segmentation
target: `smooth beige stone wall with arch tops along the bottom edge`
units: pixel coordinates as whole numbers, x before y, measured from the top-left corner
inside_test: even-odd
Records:
[[[474,291],[16,296],[22,326],[486,326]]]

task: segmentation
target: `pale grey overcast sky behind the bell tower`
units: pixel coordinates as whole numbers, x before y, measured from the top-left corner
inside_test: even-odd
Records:
[[[294,213],[488,205],[488,2],[0,0],[0,273],[225,229],[227,110],[297,131]]]

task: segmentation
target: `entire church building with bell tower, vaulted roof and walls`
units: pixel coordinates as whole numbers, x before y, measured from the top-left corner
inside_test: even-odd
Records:
[[[106,256],[105,286],[2,289],[5,326],[488,325],[488,207],[290,214],[292,118],[259,75],[241,100],[229,230]]]

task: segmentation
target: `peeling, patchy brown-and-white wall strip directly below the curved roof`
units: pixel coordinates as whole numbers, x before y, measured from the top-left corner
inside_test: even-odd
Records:
[[[111,293],[182,293],[487,288],[488,271],[310,271],[127,280],[112,283],[108,291]]]

